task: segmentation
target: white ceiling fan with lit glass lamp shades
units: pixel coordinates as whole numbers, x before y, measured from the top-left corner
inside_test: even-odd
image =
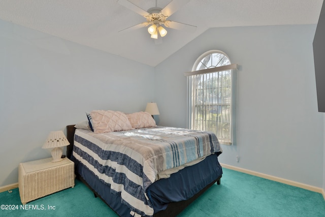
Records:
[[[185,30],[187,32],[194,32],[197,26],[167,20],[169,16],[171,16],[189,1],[190,0],[174,0],[171,1],[165,8],[161,9],[157,7],[156,0],[156,7],[149,8],[148,11],[145,11],[139,8],[137,5],[133,4],[132,2],[129,2],[128,0],[118,0],[118,3],[120,5],[140,14],[141,16],[147,19],[147,21],[145,22],[139,23],[131,27],[127,27],[125,29],[120,30],[119,32],[134,30],[148,25],[150,25],[148,28],[148,32],[151,35],[151,38],[153,39],[158,39],[158,33],[161,37],[166,36],[167,30],[163,27],[163,25],[168,28]]]

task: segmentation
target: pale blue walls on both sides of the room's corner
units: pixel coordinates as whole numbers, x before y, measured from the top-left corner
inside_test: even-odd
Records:
[[[183,73],[219,49],[241,66],[238,144],[222,146],[220,162],[324,189],[315,28],[213,28],[152,68],[0,20],[0,186],[17,182],[20,162],[50,157],[41,148],[48,133],[84,120],[85,111],[133,112],[155,101],[159,125],[185,128]]]

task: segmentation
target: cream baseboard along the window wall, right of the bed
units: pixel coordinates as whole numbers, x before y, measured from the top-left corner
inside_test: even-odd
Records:
[[[281,182],[281,183],[284,183],[284,184],[292,185],[292,186],[295,186],[295,187],[298,187],[298,188],[301,188],[301,189],[306,189],[306,190],[309,190],[309,191],[317,192],[317,193],[322,194],[323,198],[325,200],[325,192],[321,188],[314,187],[314,186],[309,185],[309,184],[300,183],[300,182],[297,182],[297,181],[291,181],[291,180],[288,180],[288,179],[279,178],[279,177],[276,177],[276,176],[255,172],[255,171],[252,171],[252,170],[243,169],[243,168],[240,168],[240,167],[234,167],[234,166],[230,166],[230,165],[226,165],[226,164],[220,164],[220,165],[222,167],[226,168],[226,169],[231,169],[231,170],[235,170],[235,171],[238,171],[238,172],[247,173],[247,174],[250,174],[250,175],[266,178],[266,179],[269,179],[269,180],[272,180],[272,181],[277,181],[277,182]]]

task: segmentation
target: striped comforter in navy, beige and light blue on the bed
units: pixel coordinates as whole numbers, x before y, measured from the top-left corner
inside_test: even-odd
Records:
[[[73,155],[132,211],[151,216],[145,192],[159,172],[221,152],[211,132],[154,127],[101,134],[76,130]]]

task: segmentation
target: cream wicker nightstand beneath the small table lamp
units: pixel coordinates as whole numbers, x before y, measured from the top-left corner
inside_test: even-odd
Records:
[[[20,163],[18,185],[22,204],[75,186],[74,163],[68,158]]]

